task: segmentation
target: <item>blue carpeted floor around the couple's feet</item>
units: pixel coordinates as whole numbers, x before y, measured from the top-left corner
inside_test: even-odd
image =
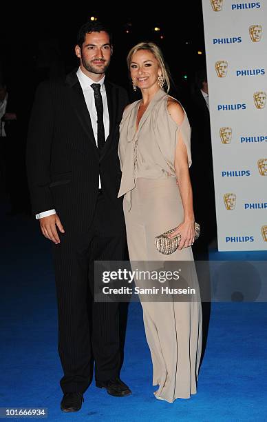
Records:
[[[131,303],[121,378],[133,394],[92,384],[81,411],[63,414],[50,246],[30,217],[2,223],[0,408],[47,408],[49,421],[266,421],[266,303],[212,304],[198,392],[172,404],[153,396],[142,311]]]

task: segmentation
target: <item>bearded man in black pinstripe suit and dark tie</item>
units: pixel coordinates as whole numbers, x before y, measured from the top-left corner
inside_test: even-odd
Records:
[[[27,154],[32,208],[54,243],[65,412],[81,408],[92,356],[97,387],[114,396],[131,394],[119,378],[118,303],[94,302],[94,261],[122,260],[125,252],[117,195],[127,92],[105,80],[112,54],[105,26],[85,23],[75,52],[78,70],[36,92]]]

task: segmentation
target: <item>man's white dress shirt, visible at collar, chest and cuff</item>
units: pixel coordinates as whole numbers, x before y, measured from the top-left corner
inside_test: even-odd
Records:
[[[96,83],[96,81],[93,81],[89,77],[86,76],[81,70],[81,68],[78,68],[77,72],[78,81],[81,84],[81,88],[83,90],[83,96],[85,97],[85,103],[87,106],[87,109],[89,111],[91,122],[92,122],[92,128],[94,132],[94,139],[96,140],[97,144],[97,112],[96,112],[96,105],[94,102],[94,90],[91,87],[92,83]],[[104,128],[105,128],[105,139],[107,140],[107,137],[109,136],[109,109],[107,108],[107,93],[105,90],[104,85],[105,77],[103,77],[100,81],[97,83],[100,83],[100,92],[103,100],[103,119],[104,119]],[[99,174],[99,183],[98,183],[99,189],[101,188],[101,181],[100,181],[100,174]],[[49,215],[56,214],[56,210],[48,210],[44,212],[40,212],[39,214],[36,214],[36,219],[42,219],[43,217],[48,217]]]

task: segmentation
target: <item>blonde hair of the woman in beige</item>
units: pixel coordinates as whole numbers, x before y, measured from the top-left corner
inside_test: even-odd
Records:
[[[139,50],[148,50],[153,54],[153,56],[156,57],[156,59],[158,61],[158,66],[160,66],[160,69],[162,71],[162,77],[165,81],[164,86],[167,86],[167,92],[169,92],[170,87],[171,87],[171,83],[170,83],[171,76],[170,76],[170,73],[169,73],[169,68],[167,66],[167,63],[164,62],[162,51],[160,50],[160,48],[158,46],[156,46],[155,43],[150,43],[150,42],[149,43],[138,43],[138,44],[136,44],[136,46],[131,48],[131,50],[129,51],[129,53],[127,55],[128,70],[130,71],[131,58],[133,57],[133,54],[135,54]]]

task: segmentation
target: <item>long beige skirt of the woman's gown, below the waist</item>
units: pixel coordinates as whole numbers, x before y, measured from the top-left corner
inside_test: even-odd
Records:
[[[178,270],[188,263],[186,281],[197,291],[194,300],[180,300],[177,295],[168,301],[141,299],[145,333],[153,363],[153,385],[158,385],[157,399],[173,402],[188,399],[197,391],[197,375],[202,348],[202,310],[191,248],[164,255],[155,248],[159,234],[183,221],[182,200],[176,179],[136,179],[136,188],[125,195],[124,212],[131,263],[137,261],[153,268],[155,261],[164,261]],[[180,261],[180,263],[179,263]],[[142,285],[136,281],[136,285]],[[173,299],[175,297],[175,299]],[[197,299],[196,299],[197,297]]]

